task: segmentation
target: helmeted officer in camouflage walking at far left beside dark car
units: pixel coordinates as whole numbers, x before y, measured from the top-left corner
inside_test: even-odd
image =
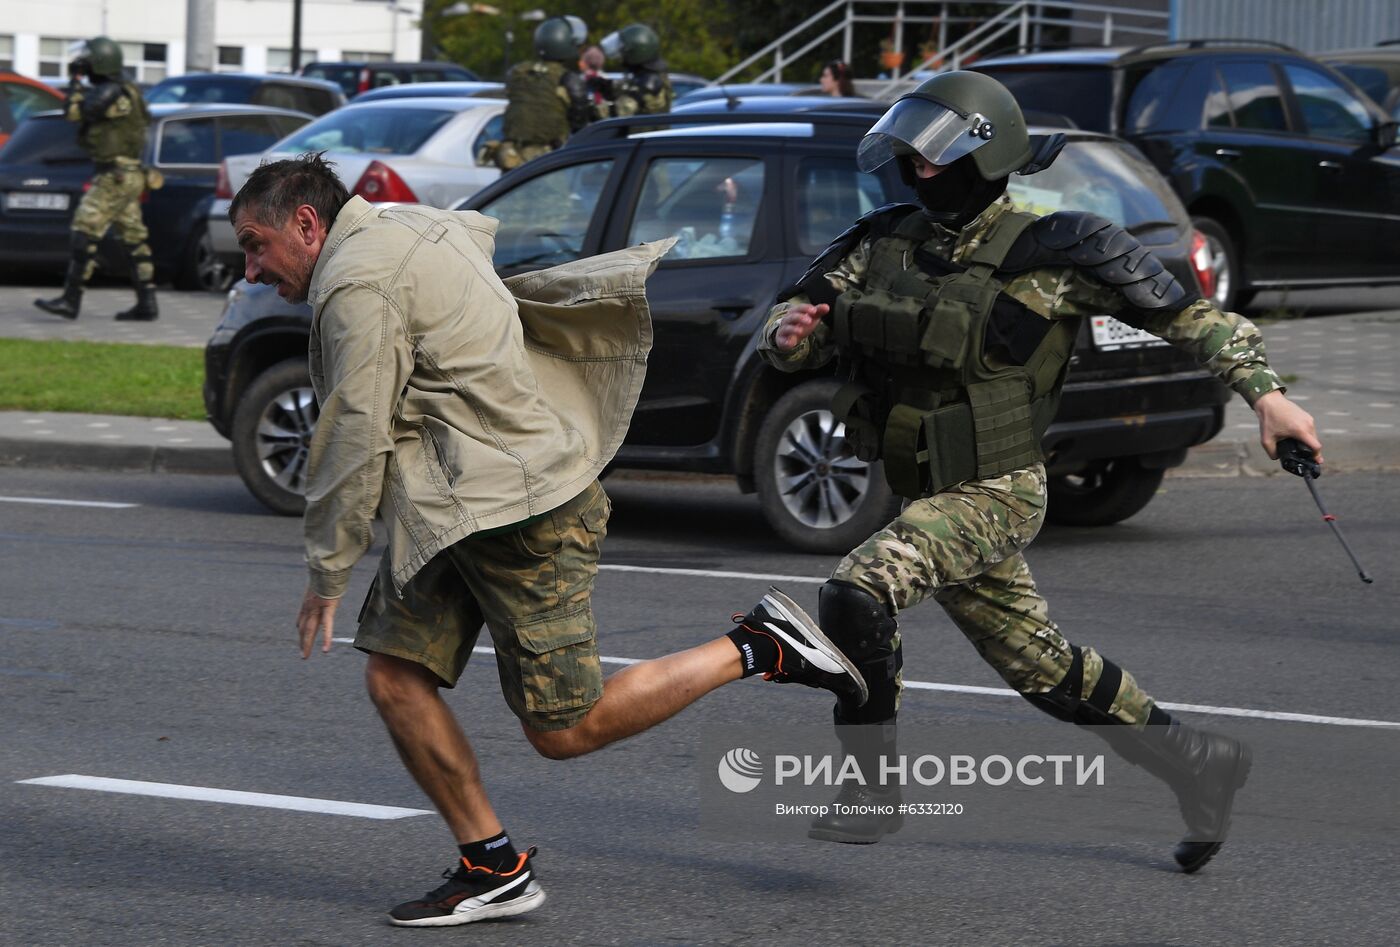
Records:
[[[151,116],[134,83],[122,78],[122,48],[106,36],[83,43],[69,64],[66,113],[78,123],[78,143],[92,155],[97,174],[73,214],[71,256],[63,280],[63,294],[35,300],[46,312],[66,319],[78,318],[83,287],[97,268],[97,249],[108,228],[116,234],[132,262],[136,305],[118,312],[118,319],[150,321],[155,307],[155,268],[141,220],[141,193],[160,186],[155,171],[141,167],[146,129]],[[83,77],[90,85],[83,85]]]

